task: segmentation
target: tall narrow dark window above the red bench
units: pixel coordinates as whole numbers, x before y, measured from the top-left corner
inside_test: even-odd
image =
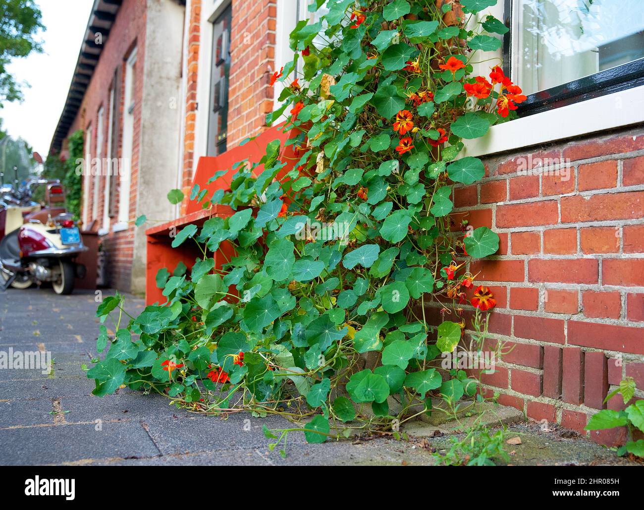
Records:
[[[226,150],[228,124],[228,82],[231,71],[232,6],[228,5],[213,23],[210,110],[206,154],[217,156]]]

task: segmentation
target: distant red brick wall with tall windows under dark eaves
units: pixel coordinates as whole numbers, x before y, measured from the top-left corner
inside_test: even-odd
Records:
[[[117,18],[112,25],[109,36],[104,38],[104,48],[100,54],[99,62],[95,68],[90,85],[88,86],[79,115],[75,119],[69,134],[77,129],[93,127],[93,140],[91,141],[90,153],[92,158],[97,155],[97,122],[100,107],[104,108],[104,126],[102,154],[107,157],[108,151],[108,119],[109,119],[109,91],[114,72],[117,66],[121,68],[120,97],[115,98],[120,105],[120,126],[118,133],[113,133],[113,143],[118,144],[118,157],[122,157],[122,129],[125,95],[125,66],[126,59],[134,48],[137,48],[137,63],[135,64],[135,109],[134,109],[134,134],[132,144],[131,161],[131,185],[128,190],[130,194],[129,218],[134,219],[137,207],[137,185],[138,185],[138,144],[141,129],[141,100],[143,91],[143,61],[144,61],[144,40],[146,31],[146,0],[124,0]],[[87,153],[87,147],[84,150]],[[102,223],[104,207],[104,177],[99,179],[99,207],[97,218],[91,217],[94,179],[91,178],[89,189],[83,189],[90,199],[88,207],[90,222],[97,219],[99,225]],[[111,177],[111,186],[117,185],[115,197],[115,216],[110,218],[111,225],[118,222],[118,176]],[[134,224],[131,223],[126,231],[113,232],[102,237],[102,247],[108,254],[107,274],[108,284],[120,290],[129,290],[132,258],[134,244]]]

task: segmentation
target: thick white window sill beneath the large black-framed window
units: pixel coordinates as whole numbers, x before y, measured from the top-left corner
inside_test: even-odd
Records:
[[[468,140],[463,156],[487,156],[516,151],[553,140],[578,137],[644,122],[644,86],[517,118]]]

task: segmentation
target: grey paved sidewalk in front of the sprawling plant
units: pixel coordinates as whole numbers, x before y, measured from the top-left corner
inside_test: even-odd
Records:
[[[105,294],[108,294],[106,292]],[[129,298],[131,312],[142,299]],[[0,351],[50,351],[53,372],[0,370],[0,464],[429,464],[427,451],[393,440],[307,444],[290,433],[288,457],[262,433],[291,427],[280,417],[195,415],[161,395],[127,389],[102,399],[82,365],[96,355],[93,292],[0,292]],[[251,430],[244,427],[250,420]],[[245,430],[246,429],[246,430]]]

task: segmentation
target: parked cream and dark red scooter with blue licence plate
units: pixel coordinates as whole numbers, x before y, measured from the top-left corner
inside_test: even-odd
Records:
[[[46,185],[47,207],[32,201],[32,186]],[[59,181],[32,179],[3,187],[0,196],[0,290],[51,282],[56,294],[71,294],[86,267],[75,258],[83,245],[73,214],[57,207],[65,200]]]

